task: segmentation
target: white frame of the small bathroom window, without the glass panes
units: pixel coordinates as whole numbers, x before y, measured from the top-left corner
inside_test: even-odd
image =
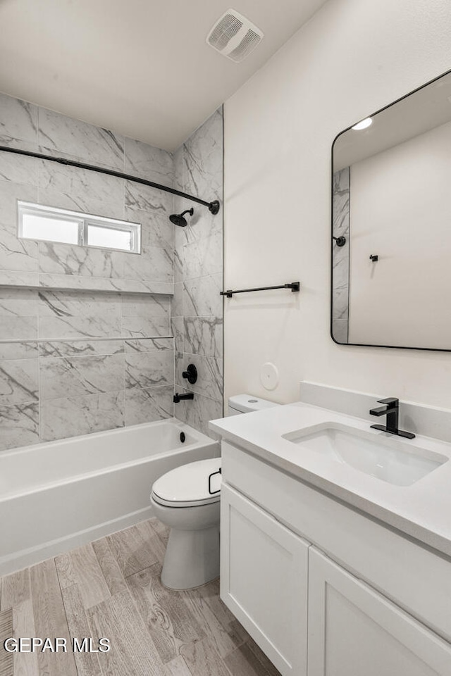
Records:
[[[54,218],[58,220],[67,220],[78,225],[78,242],[57,242],[54,239],[45,239],[45,237],[25,237],[23,234],[23,216],[37,215],[42,218]],[[35,204],[32,202],[17,201],[17,223],[18,238],[29,239],[35,242],[51,242],[51,244],[66,244],[68,246],[83,246],[86,249],[101,249],[101,251],[120,251],[121,253],[141,253],[141,223],[132,223],[128,220],[118,218],[106,218],[92,213],[83,213],[82,211],[71,211],[70,209],[61,209],[44,204]],[[121,230],[130,232],[131,249],[117,249],[113,246],[97,246],[89,244],[89,225],[104,227],[108,230]]]

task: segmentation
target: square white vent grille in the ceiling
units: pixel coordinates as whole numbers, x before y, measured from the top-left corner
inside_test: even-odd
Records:
[[[242,61],[263,39],[263,33],[235,9],[228,9],[206,38],[207,44],[232,61]]]

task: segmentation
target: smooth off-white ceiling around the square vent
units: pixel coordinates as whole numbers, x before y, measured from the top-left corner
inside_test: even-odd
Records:
[[[0,92],[173,151],[325,0],[0,0]],[[206,44],[230,8],[264,32]]]

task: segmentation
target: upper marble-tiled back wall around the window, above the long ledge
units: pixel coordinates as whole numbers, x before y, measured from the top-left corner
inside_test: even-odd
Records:
[[[4,94],[0,94],[0,144],[173,184],[173,157],[166,151]],[[140,222],[142,253],[19,240],[18,199]],[[101,284],[99,288],[113,290],[118,282],[118,290],[135,290],[130,286],[134,283],[142,284],[144,291],[145,284],[171,284],[172,208],[173,196],[158,189],[37,158],[0,154],[0,280],[15,271],[18,279],[29,273],[41,284],[43,277],[46,285],[58,283],[52,275],[66,275],[74,288]]]

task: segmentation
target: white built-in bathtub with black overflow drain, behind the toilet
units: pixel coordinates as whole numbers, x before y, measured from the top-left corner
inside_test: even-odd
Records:
[[[175,418],[2,451],[0,575],[151,517],[158,477],[217,456]]]

